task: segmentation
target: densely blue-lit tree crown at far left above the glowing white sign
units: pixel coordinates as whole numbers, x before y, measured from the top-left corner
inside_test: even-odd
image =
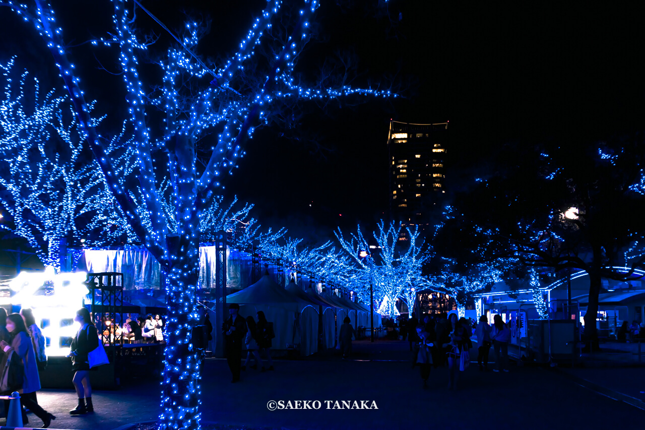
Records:
[[[3,227],[25,238],[43,264],[58,272],[60,242],[82,238],[77,224],[103,210],[110,198],[99,192],[103,174],[83,155],[79,124],[65,97],[53,91],[43,96],[37,79],[27,72],[15,79],[13,66],[14,59],[0,65]]]

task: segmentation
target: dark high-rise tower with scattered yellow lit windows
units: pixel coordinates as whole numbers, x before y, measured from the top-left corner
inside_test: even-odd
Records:
[[[412,124],[390,120],[390,212],[406,224],[422,222],[424,210],[444,191],[448,122]]]

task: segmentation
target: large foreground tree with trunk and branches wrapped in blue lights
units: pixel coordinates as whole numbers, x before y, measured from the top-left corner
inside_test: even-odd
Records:
[[[114,160],[106,154],[95,130],[54,10],[46,0],[34,3],[35,6],[23,6],[6,1],[0,5],[9,6],[32,21],[45,39],[110,192],[138,241],[166,273],[170,318],[166,325],[168,347],[160,419],[164,428],[197,429],[200,363],[190,336],[199,320],[195,289],[202,212],[244,155],[246,140],[252,138],[255,128],[277,120],[295,102],[352,95],[388,97],[390,91],[352,88],[345,85],[342,76],[321,79],[313,87],[301,85],[294,67],[310,40],[310,20],[319,1],[304,0],[301,8],[283,11],[286,5],[270,0],[239,44],[238,52],[221,67],[210,68],[195,54],[206,27],[186,22],[181,34],[173,36],[177,45],[168,48],[163,59],[155,59],[163,77],[156,90],[148,94],[143,81],[154,80],[154,74],[146,75],[139,64],[146,58],[151,41],[142,39],[134,26],[147,11],[137,2],[137,8],[143,12],[134,14],[134,3],[113,0],[114,30],[93,43],[118,48],[126,90],[125,110],[134,128],[133,148],[137,154],[134,175],[143,199],[143,205],[137,205],[131,197],[132,187],[128,181],[119,179]],[[326,83],[332,81],[339,85],[328,87]],[[161,112],[163,126],[155,123],[157,116],[151,112]],[[215,139],[203,139],[212,135]],[[210,153],[204,169],[198,169],[198,151]],[[175,229],[168,225],[163,197],[158,191],[164,178],[172,187]],[[143,212],[148,215],[142,216]]]

